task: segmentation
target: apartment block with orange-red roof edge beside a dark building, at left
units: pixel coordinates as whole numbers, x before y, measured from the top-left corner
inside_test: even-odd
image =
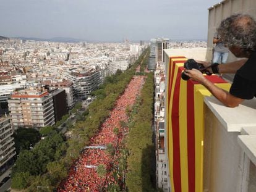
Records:
[[[53,96],[45,88],[15,91],[8,99],[12,128],[54,125]]]

